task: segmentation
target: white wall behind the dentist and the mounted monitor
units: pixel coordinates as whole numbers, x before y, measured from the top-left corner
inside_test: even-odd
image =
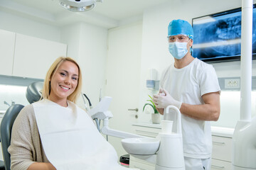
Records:
[[[174,62],[173,57],[169,54],[168,44],[166,40],[167,27],[169,22],[173,19],[183,19],[191,23],[192,18],[205,16],[210,13],[217,13],[232,8],[241,6],[240,0],[173,0],[163,6],[157,8],[150,8],[144,11],[143,18],[143,37],[142,37],[142,71],[141,71],[141,86],[140,86],[140,104],[142,108],[147,94],[155,94],[157,91],[146,89],[145,81],[148,74],[148,69],[154,68],[158,70],[159,76],[163,69]],[[255,75],[255,63],[253,62],[253,74]],[[240,76],[240,62],[225,62],[220,64],[213,64],[218,77],[238,77]],[[221,96],[222,97],[222,96]],[[235,99],[233,98],[235,97]],[[232,113],[226,113],[230,109],[230,100],[234,99],[234,107]],[[228,114],[229,118],[221,116],[219,123],[215,125],[222,125],[227,127],[226,122],[231,121],[228,127],[235,125],[240,114],[240,95],[234,94],[220,98],[221,100],[221,115]],[[252,105],[256,108],[255,104]],[[225,112],[223,112],[225,111]],[[255,111],[255,109],[254,109]],[[150,116],[146,113],[140,113],[139,121],[149,121]],[[234,116],[235,115],[235,116]],[[233,119],[234,118],[234,119]],[[214,123],[213,123],[214,125]],[[234,127],[232,127],[234,128]]]

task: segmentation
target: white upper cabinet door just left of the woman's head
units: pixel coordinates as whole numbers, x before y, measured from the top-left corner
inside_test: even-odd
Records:
[[[54,60],[65,57],[67,45],[16,33],[13,76],[44,79]]]

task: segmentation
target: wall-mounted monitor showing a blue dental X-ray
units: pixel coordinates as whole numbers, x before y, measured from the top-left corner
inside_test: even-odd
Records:
[[[256,59],[256,4],[253,5],[252,58]],[[193,57],[204,62],[238,61],[241,55],[241,8],[192,19]]]

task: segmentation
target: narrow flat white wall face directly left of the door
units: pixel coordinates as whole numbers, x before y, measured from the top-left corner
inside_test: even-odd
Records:
[[[82,23],[78,62],[82,65],[83,92],[96,106],[100,89],[105,96],[105,67],[107,58],[107,29]]]

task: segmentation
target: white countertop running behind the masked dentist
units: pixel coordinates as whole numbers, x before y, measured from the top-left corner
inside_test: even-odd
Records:
[[[154,124],[149,122],[137,122],[137,123],[133,123],[132,125],[161,129],[161,124]],[[234,130],[235,130],[234,128],[225,128],[225,127],[217,127],[217,126],[211,127],[212,135],[221,136],[221,137],[233,137]]]

